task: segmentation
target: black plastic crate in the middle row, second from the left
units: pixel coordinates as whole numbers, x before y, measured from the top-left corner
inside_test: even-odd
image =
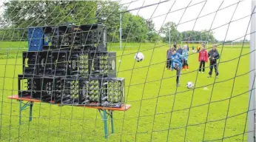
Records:
[[[53,65],[52,52],[50,50],[38,52],[39,75],[52,75]]]

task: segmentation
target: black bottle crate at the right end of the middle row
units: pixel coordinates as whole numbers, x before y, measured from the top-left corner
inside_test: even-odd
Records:
[[[116,53],[92,52],[90,53],[92,76],[116,77]]]

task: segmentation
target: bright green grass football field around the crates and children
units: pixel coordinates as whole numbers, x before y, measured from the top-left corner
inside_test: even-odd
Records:
[[[175,72],[165,70],[168,45],[127,45],[120,51],[118,44],[108,44],[110,50],[117,50],[118,77],[126,79],[126,101],[132,105],[127,112],[114,112],[115,133],[108,141],[246,141],[249,48],[219,47],[220,78],[216,79],[207,78],[209,68],[198,74],[198,53],[190,49],[189,71],[182,72],[181,87],[176,89]],[[139,63],[133,59],[138,48],[145,55]],[[96,109],[36,103],[33,121],[28,121],[26,109],[19,126],[18,101],[7,96],[18,93],[21,61],[0,60],[0,141],[106,141]],[[187,81],[194,82],[195,89],[186,89]]]

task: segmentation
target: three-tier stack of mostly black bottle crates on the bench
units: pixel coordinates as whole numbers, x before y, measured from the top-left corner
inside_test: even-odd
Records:
[[[65,105],[121,107],[124,78],[102,24],[30,27],[18,96]]]

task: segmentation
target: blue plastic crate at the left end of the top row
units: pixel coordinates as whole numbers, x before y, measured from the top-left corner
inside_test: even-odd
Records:
[[[28,29],[28,50],[41,51],[44,44],[43,27],[33,27]]]

